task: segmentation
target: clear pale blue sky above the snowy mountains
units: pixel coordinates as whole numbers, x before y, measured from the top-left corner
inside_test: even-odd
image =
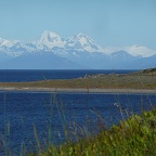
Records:
[[[43,30],[156,49],[156,0],[0,0],[1,38],[29,42]]]

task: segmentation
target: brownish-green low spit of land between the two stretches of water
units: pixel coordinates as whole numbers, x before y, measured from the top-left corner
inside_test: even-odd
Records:
[[[156,68],[130,74],[86,75],[66,80],[0,82],[0,88],[70,88],[70,89],[156,89]]]

